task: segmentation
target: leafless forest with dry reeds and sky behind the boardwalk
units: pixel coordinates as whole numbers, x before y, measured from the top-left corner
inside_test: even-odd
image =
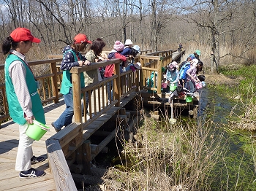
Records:
[[[61,54],[78,33],[103,39],[131,39],[140,50],[199,49],[211,73],[219,65],[255,63],[255,0],[0,0],[0,39],[17,27],[42,40],[28,60]],[[5,57],[0,56],[1,63]]]

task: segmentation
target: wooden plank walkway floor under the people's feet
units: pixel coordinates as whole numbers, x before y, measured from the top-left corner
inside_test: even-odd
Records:
[[[127,98],[121,100],[121,107],[125,106],[136,93],[131,93]],[[39,141],[34,141],[32,144],[34,155],[44,156],[47,158],[47,152],[45,147],[45,140],[56,134],[56,131],[51,127],[50,123],[59,118],[64,111],[66,105],[64,100],[61,100],[58,104],[50,104],[45,106],[45,119],[46,125],[50,127],[50,131]],[[116,114],[118,108],[113,107],[106,114],[102,114],[99,120],[94,120],[94,125],[88,125],[88,128],[83,130],[83,138],[88,139],[92,133],[94,133],[101,125],[103,125],[108,119]],[[104,118],[105,120],[102,120]],[[95,125],[97,124],[97,125]],[[94,128],[92,128],[94,126]],[[18,125],[13,122],[4,122],[1,124],[0,129],[0,190],[56,190],[53,182],[53,175],[50,172],[48,165],[48,159],[42,163],[32,165],[33,168],[37,168],[41,171],[45,171],[46,175],[37,179],[20,179],[18,171],[15,171],[15,160],[18,149],[19,131]]]

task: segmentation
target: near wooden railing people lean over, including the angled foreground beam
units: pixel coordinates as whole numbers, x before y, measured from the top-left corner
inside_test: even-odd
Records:
[[[109,64],[115,64],[116,74],[113,77],[89,85],[88,87],[80,88],[80,73],[91,69],[98,69],[99,67]],[[73,95],[75,95],[73,100],[75,122],[46,141],[48,158],[50,158],[50,168],[53,172],[54,181],[56,182],[56,190],[75,190],[74,184],[70,184],[70,182],[72,182],[72,176],[69,171],[69,166],[67,163],[59,163],[59,161],[66,160],[67,157],[76,151],[75,159],[77,163],[80,163],[83,169],[85,169],[86,166],[88,169],[90,166],[91,155],[78,155],[79,153],[91,153],[89,142],[83,139],[83,129],[94,122],[103,112],[107,112],[108,109],[111,109],[112,106],[118,107],[121,98],[136,90],[132,88],[131,82],[127,82],[127,79],[134,80],[137,88],[139,85],[138,71],[137,73],[132,71],[120,73],[120,60],[118,59],[91,63],[90,66],[74,67],[70,72],[72,73]],[[113,83],[113,101],[110,100],[110,103],[108,103],[106,96],[106,86],[108,83]],[[91,91],[93,92],[92,95]],[[86,112],[86,93],[89,93],[90,120],[86,119],[86,114],[84,114],[84,120],[82,120],[81,95],[83,95],[83,112]],[[94,111],[92,111],[92,109],[94,109]],[[57,158],[60,159],[56,160]],[[59,172],[61,172],[61,174]]]

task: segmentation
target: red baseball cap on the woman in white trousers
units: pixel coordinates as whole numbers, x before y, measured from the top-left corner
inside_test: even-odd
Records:
[[[14,42],[21,42],[21,41],[31,41],[39,43],[41,42],[40,39],[37,39],[31,34],[31,31],[29,31],[28,28],[16,28],[12,33],[10,34]]]

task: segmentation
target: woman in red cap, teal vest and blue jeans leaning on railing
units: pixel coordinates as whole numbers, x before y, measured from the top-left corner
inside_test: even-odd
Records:
[[[64,47],[63,60],[61,62],[61,70],[63,70],[61,93],[64,96],[66,109],[61,114],[58,120],[52,122],[56,132],[59,132],[63,126],[67,126],[72,123],[72,117],[74,115],[73,107],[73,91],[72,91],[72,79],[70,69],[74,66],[88,66],[91,62],[80,53],[86,50],[86,44],[91,44],[85,34],[78,34],[74,37],[74,41],[71,45]],[[85,87],[83,72],[80,74],[80,86]]]

